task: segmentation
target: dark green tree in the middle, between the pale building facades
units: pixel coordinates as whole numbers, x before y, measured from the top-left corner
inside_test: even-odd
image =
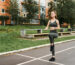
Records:
[[[37,2],[34,0],[24,0],[22,5],[23,5],[24,9],[26,10],[26,12],[28,12],[26,18],[27,19],[35,18],[36,14],[38,13]]]

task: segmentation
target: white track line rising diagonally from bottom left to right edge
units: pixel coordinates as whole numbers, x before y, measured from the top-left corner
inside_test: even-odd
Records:
[[[73,48],[75,48],[75,47],[70,47],[70,48],[67,48],[67,49],[58,51],[58,52],[56,52],[56,54],[59,54],[59,53],[64,52],[64,51],[71,50],[71,49],[73,49]],[[35,60],[41,60],[41,58],[45,58],[45,57],[50,56],[50,55],[51,55],[51,54],[45,55],[45,56],[42,56],[42,57],[39,57],[39,58],[35,58],[35,59],[33,59],[33,60],[30,60],[30,61],[27,61],[27,62],[24,62],[24,63],[20,63],[20,64],[17,64],[17,65],[23,65],[23,64],[27,64],[27,63],[30,63],[30,62],[32,62],[32,61],[35,61]],[[29,57],[29,56],[27,56],[27,57]],[[30,57],[30,58],[31,58],[31,57]],[[45,61],[45,60],[43,60],[43,61]],[[52,63],[53,63],[53,62],[52,62]],[[56,62],[55,62],[55,63],[56,63]],[[56,64],[61,65],[60,63],[56,63]]]

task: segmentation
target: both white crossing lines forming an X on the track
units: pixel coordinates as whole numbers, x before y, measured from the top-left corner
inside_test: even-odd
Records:
[[[73,49],[73,48],[75,48],[75,46],[74,46],[74,47],[67,48],[67,49],[64,49],[64,50],[61,50],[61,51],[58,51],[58,52],[56,52],[56,54],[61,53],[61,52],[65,52],[65,51],[68,51],[68,50],[71,50],[71,49]],[[41,59],[41,58],[45,58],[45,57],[47,57],[47,56],[50,56],[51,54],[45,55],[45,56],[42,56],[42,57],[39,57],[39,58],[35,58],[35,57],[27,56],[27,55],[22,55],[22,54],[18,54],[18,55],[24,56],[24,57],[28,57],[28,58],[33,58],[33,60],[30,60],[30,61],[27,61],[27,62],[23,62],[23,63],[17,64],[17,65],[23,65],[23,64],[27,64],[27,63],[30,63],[30,62],[32,62],[32,61],[35,61],[35,60],[46,61],[46,60],[43,60],[43,59]],[[46,61],[46,62],[48,62],[48,61]],[[51,63],[58,64],[58,65],[64,65],[64,64],[56,63],[56,62],[51,62]]]

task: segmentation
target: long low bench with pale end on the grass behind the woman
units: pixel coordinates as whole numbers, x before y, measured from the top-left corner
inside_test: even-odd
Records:
[[[26,34],[26,32],[28,30],[35,30],[37,31],[37,34]],[[24,38],[35,38],[35,37],[44,37],[44,36],[48,36],[49,33],[42,33],[43,29],[23,29],[21,30],[21,37]],[[71,32],[58,32],[59,36],[63,36],[63,35],[71,35]]]

